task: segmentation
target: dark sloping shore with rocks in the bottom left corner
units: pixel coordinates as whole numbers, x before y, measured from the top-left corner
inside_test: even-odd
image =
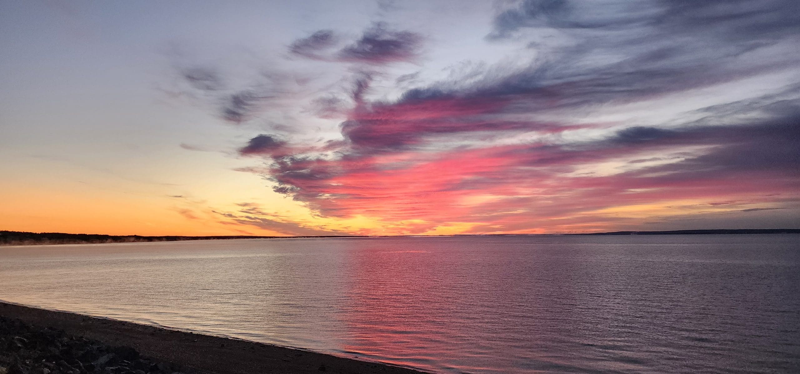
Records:
[[[34,364],[41,363],[39,366],[42,368],[45,368],[42,365],[47,362],[51,368],[46,372],[54,372],[52,365],[58,363],[59,360],[76,362],[77,358],[70,357],[70,352],[75,349],[82,349],[85,352],[87,348],[81,347],[89,347],[96,351],[96,353],[92,351],[95,356],[99,356],[101,359],[102,357],[111,357],[116,360],[113,362],[120,362],[122,358],[119,356],[123,354],[136,356],[137,360],[142,361],[136,364],[142,368],[137,369],[138,371],[131,370],[131,372],[418,373],[408,368],[350,360],[300,349],[191,332],[178,332],[143,324],[68,312],[54,312],[16,304],[0,303],[0,316],[6,317],[6,320],[2,321],[0,340],[4,340],[7,345],[7,347],[0,347],[0,349],[6,349],[5,352],[0,351],[6,355],[5,358],[0,356],[0,359],[10,360],[9,355],[18,355],[16,352],[22,352],[19,354],[29,356],[42,353],[44,358],[35,356],[36,360],[29,361],[35,361]],[[62,343],[58,343],[58,341],[62,341]],[[54,344],[58,344],[58,347]],[[70,348],[73,350],[70,351],[70,349],[62,347],[62,344],[65,347],[69,344],[73,346],[77,344],[78,348]],[[50,345],[53,346],[50,347]],[[12,348],[15,350],[14,352],[11,352]],[[130,348],[137,353],[131,354]],[[140,355],[141,357],[139,357]],[[99,359],[93,357],[91,360],[96,362]],[[0,367],[2,365],[0,363]],[[146,365],[150,366],[144,368]],[[14,372],[10,368],[6,367],[5,369],[9,373]],[[0,368],[0,371],[2,370],[3,368]],[[32,372],[44,371],[37,368]],[[58,372],[58,369],[55,369],[55,372]],[[77,372],[90,371],[77,370]],[[94,372],[115,371],[95,369]]]

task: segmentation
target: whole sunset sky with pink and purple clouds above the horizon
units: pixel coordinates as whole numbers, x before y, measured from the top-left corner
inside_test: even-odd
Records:
[[[0,230],[800,227],[800,2],[0,2]]]

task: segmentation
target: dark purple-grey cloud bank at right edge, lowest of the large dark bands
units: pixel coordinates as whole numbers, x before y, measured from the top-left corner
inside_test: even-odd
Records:
[[[779,109],[767,107],[759,115],[761,118],[729,119],[726,125],[698,121],[674,129],[627,127],[606,139],[537,146],[522,153],[530,152],[533,157],[530,165],[541,166],[610,159],[636,151],[706,146],[707,150],[701,155],[686,155],[682,161],[646,167],[630,175],[669,173],[664,178],[704,179],[766,171],[797,183],[800,177],[800,105],[794,106],[794,111],[783,106]]]

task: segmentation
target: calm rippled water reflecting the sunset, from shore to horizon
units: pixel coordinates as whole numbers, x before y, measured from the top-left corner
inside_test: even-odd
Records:
[[[800,235],[0,247],[0,299],[434,372],[800,372]]]

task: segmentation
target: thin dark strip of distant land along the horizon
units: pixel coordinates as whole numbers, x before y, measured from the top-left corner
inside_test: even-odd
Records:
[[[676,231],[614,231],[614,232],[592,232],[586,234],[560,234],[560,235],[709,235],[709,234],[800,234],[800,228],[676,230]],[[548,234],[496,234],[496,235],[548,235]],[[415,236],[415,235],[398,235],[398,236],[402,237],[402,236]],[[478,234],[478,235],[445,235],[445,236],[487,236],[487,235]],[[212,239],[290,239],[290,238],[365,238],[365,237],[369,236],[366,235],[142,236],[142,235],[66,234],[64,232],[0,231],[0,245],[141,243],[141,242],[170,242],[178,240],[212,240]]]

